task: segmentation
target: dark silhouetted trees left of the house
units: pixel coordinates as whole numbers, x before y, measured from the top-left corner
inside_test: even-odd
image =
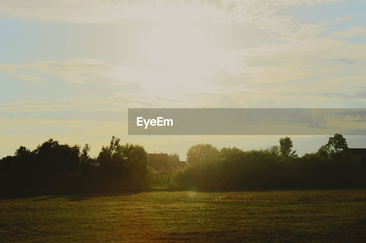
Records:
[[[99,155],[90,146],[69,146],[49,139],[33,151],[20,146],[0,161],[2,194],[47,194],[147,188],[148,155],[139,145],[114,136]]]

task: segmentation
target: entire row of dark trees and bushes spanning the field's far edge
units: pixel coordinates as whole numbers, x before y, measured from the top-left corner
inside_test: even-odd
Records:
[[[111,190],[315,189],[366,186],[366,163],[352,162],[346,139],[329,138],[316,153],[302,157],[292,140],[243,151],[197,144],[187,151],[188,166],[155,171],[140,145],[112,137],[97,157],[90,146],[69,146],[49,139],[33,151],[20,146],[0,160],[1,194],[54,194]],[[177,159],[177,154],[173,154]],[[178,158],[179,159],[179,158]]]

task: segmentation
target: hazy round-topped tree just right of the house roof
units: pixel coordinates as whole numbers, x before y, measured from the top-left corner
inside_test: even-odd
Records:
[[[189,163],[198,163],[207,158],[213,158],[219,153],[217,147],[212,146],[209,143],[206,144],[196,144],[188,148],[186,153],[187,162]]]

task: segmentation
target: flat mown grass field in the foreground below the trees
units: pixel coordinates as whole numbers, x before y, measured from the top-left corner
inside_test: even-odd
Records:
[[[3,199],[0,242],[14,240],[365,242],[366,189]]]

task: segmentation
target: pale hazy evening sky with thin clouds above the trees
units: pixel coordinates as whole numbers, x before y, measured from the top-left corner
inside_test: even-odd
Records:
[[[129,136],[127,109],[365,108],[365,67],[365,0],[3,0],[0,157],[113,135],[182,160],[265,148],[279,136]],[[302,155],[329,136],[291,138]]]

